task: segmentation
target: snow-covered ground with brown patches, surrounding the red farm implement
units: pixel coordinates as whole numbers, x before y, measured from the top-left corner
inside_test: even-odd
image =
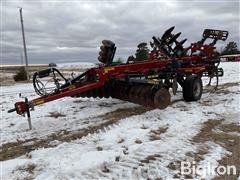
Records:
[[[7,110],[19,92],[35,98],[32,85],[1,87],[1,178],[173,179],[181,177],[181,161],[239,163],[231,157],[239,158],[240,63],[221,66],[219,89],[205,86],[198,102],[184,102],[180,90],[164,110],[116,99],[64,98],[36,107],[31,131],[25,117]]]

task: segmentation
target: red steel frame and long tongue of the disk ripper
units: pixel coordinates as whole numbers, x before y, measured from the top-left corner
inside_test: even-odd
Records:
[[[184,56],[181,58],[176,58],[176,61],[189,61],[191,65],[187,67],[180,67],[176,69],[177,74],[188,75],[188,74],[201,74],[209,69],[208,64],[204,64],[203,61],[208,58],[211,59],[214,56],[215,47],[209,45],[199,45],[198,43],[193,43],[191,45],[191,52],[202,51],[206,54],[205,57],[201,56]],[[33,99],[26,104],[26,102],[15,103],[15,109],[10,110],[17,111],[18,114],[24,114],[29,111],[29,107],[41,105],[50,101],[54,101],[65,96],[74,96],[76,94],[86,92],[91,89],[96,89],[102,87],[110,78],[121,79],[125,75],[136,73],[147,76],[151,69],[163,70],[167,65],[171,64],[171,59],[159,60],[158,54],[161,53],[159,50],[152,50],[149,54],[149,59],[147,61],[132,63],[132,64],[120,64],[115,66],[99,66],[97,68],[92,68],[86,72],[89,76],[98,76],[98,81],[87,82],[87,83],[74,83],[54,94],[48,96],[42,96],[37,99]]]

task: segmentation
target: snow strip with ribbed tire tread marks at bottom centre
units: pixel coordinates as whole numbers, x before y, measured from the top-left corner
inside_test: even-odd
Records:
[[[173,124],[171,126],[173,126]],[[139,177],[148,179],[149,171],[156,173],[155,175],[150,174],[150,176],[154,176],[154,179],[160,178],[161,172],[168,171],[166,166],[174,159],[175,151],[172,152],[172,150],[170,150],[169,152],[163,148],[167,145],[168,141],[174,141],[171,140],[171,135],[168,137],[168,140],[165,139],[165,137],[168,136],[168,131],[166,130],[166,132],[162,132],[159,135],[159,140],[145,140],[137,151],[123,153],[124,155],[121,156],[119,160],[106,164],[106,167],[90,169],[84,172],[82,174],[83,179],[101,179],[106,177],[109,179],[136,179]],[[162,140],[162,136],[165,136],[165,140]],[[182,144],[183,146],[191,146],[185,142],[182,142]],[[132,146],[134,146],[134,144]],[[171,155],[173,156],[171,157]],[[159,168],[162,168],[162,171],[159,172]],[[173,172],[169,173],[174,174]]]

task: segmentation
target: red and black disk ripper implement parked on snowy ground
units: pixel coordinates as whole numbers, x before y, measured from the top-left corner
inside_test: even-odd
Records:
[[[161,38],[152,38],[152,50],[146,59],[131,56],[127,63],[114,63],[115,44],[103,40],[98,57],[101,64],[96,68],[71,79],[66,79],[56,68],[36,72],[33,86],[40,97],[31,101],[25,98],[25,101],[15,103],[15,108],[8,112],[27,113],[31,129],[30,109],[65,96],[112,97],[164,109],[171,102],[169,89],[172,88],[175,94],[179,84],[184,100],[199,100],[203,89],[201,77],[209,77],[209,84],[216,77],[217,87],[218,77],[223,76],[223,69],[218,68],[220,59],[214,45],[218,40],[225,41],[228,32],[205,29],[200,41],[184,48],[186,39],[178,41],[181,33],[173,34],[173,29],[165,31]],[[212,41],[206,44],[207,39]],[[146,43],[138,47],[141,49],[144,46]],[[46,79],[52,81],[51,87]]]

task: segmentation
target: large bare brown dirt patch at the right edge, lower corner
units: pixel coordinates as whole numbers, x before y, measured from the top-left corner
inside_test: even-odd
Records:
[[[217,131],[216,131],[217,130]],[[204,123],[201,131],[193,138],[195,143],[204,143],[213,141],[231,152],[231,155],[225,156],[219,162],[219,165],[234,165],[237,169],[237,175],[223,175],[215,179],[237,179],[240,170],[240,126],[237,123],[225,124],[224,119],[209,120]],[[203,156],[208,153],[207,147],[202,147],[198,152],[194,153],[194,161],[203,160]]]

